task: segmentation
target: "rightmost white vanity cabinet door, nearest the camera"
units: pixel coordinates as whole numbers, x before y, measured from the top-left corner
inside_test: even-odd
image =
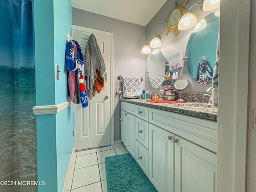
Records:
[[[175,138],[175,192],[216,192],[216,154]]]

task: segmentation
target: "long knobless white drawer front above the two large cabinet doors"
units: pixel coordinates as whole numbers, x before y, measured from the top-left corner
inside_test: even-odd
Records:
[[[152,108],[149,113],[150,123],[217,152],[217,122]]]

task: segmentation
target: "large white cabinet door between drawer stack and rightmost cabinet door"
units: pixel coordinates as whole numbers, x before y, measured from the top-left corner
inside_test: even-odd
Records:
[[[174,135],[152,124],[149,130],[149,179],[158,192],[173,192]]]

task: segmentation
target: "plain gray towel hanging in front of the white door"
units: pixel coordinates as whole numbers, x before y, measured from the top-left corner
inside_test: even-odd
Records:
[[[84,53],[84,75],[87,76],[86,83],[88,90],[93,90],[95,86],[94,81],[97,78],[96,69],[100,72],[100,77],[105,80],[108,80],[106,67],[104,63],[104,58],[101,54],[100,47],[94,34],[91,34]]]

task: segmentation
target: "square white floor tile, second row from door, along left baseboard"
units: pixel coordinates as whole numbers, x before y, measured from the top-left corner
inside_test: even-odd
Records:
[[[98,164],[96,153],[76,157],[75,169]]]

